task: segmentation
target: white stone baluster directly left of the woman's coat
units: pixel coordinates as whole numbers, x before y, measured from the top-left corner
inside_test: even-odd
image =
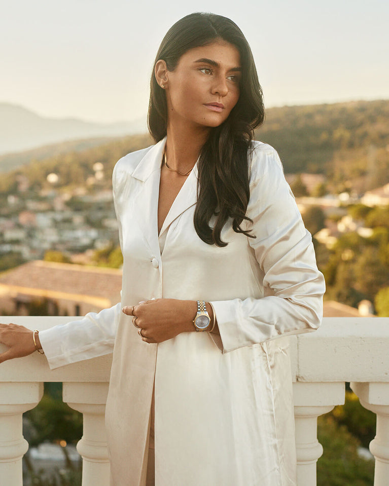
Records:
[[[104,423],[108,386],[108,383],[63,383],[63,401],[83,414],[83,436],[77,444],[83,458],[82,486],[110,484]]]

